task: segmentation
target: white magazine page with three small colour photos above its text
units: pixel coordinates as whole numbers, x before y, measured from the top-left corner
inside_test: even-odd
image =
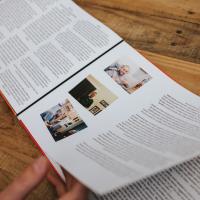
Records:
[[[19,118],[97,193],[200,153],[200,98],[123,42]]]

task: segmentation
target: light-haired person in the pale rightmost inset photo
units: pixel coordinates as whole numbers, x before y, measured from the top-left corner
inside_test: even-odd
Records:
[[[127,88],[128,83],[125,79],[123,79],[123,76],[128,74],[130,71],[130,67],[128,65],[119,65],[118,63],[115,63],[111,65],[110,67],[105,69],[105,72],[119,85],[122,87]]]

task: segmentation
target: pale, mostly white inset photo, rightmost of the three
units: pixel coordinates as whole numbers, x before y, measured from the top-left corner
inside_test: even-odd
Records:
[[[152,77],[136,66],[130,58],[122,58],[105,69],[105,72],[124,90],[132,94]]]

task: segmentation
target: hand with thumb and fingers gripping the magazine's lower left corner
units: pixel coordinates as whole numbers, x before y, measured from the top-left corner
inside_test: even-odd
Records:
[[[0,193],[2,200],[22,200],[35,189],[45,177],[55,186],[60,200],[86,200],[87,189],[70,174],[64,171],[66,184],[50,172],[50,164],[40,157]]]

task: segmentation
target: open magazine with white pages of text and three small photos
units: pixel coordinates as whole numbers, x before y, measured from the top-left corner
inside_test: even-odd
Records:
[[[92,199],[199,199],[198,96],[71,0],[3,0],[0,21],[2,96]]]

